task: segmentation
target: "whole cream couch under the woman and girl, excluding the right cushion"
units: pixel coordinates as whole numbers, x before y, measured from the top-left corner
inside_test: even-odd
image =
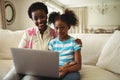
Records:
[[[0,80],[3,79],[13,66],[10,48],[18,46],[23,32],[24,31],[0,30]],[[104,53],[103,48],[105,48],[104,46],[113,34],[70,35],[75,38],[80,38],[83,43],[83,47],[81,49],[83,65],[80,71],[80,80],[120,80],[120,69],[117,69],[118,72],[107,69],[105,66],[101,66],[100,62],[102,59],[101,54],[103,55]],[[116,68],[116,65],[113,64],[113,67],[114,66]]]

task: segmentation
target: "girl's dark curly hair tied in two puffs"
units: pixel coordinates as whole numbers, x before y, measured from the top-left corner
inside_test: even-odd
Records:
[[[77,26],[78,25],[78,19],[75,15],[75,13],[72,10],[65,10],[65,13],[60,14],[59,12],[52,12],[49,15],[48,22],[49,24],[55,23],[56,20],[62,20],[66,22],[69,26]]]

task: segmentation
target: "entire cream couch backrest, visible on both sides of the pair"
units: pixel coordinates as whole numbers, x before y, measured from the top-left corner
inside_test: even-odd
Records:
[[[24,30],[0,30],[0,59],[12,59],[11,47],[18,47]],[[95,65],[106,41],[112,34],[70,34],[80,38],[83,43],[81,49],[82,63]]]

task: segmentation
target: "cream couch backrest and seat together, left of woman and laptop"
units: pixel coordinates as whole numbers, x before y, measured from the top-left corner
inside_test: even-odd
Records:
[[[10,48],[17,47],[24,30],[11,31],[0,29],[0,80],[13,66]]]

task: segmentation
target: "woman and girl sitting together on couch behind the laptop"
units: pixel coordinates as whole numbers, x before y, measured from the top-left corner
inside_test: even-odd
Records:
[[[23,75],[13,68],[3,80],[80,80],[81,41],[68,34],[68,30],[78,24],[76,15],[71,10],[65,10],[63,14],[52,12],[48,22],[54,24],[53,30],[47,25],[47,14],[47,6],[41,2],[29,7],[28,16],[36,26],[25,31],[18,47],[59,52],[60,77]]]

